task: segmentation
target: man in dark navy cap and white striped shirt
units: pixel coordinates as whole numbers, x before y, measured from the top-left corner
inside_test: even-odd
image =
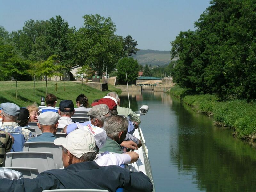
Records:
[[[59,124],[58,128],[64,128],[66,125],[74,123],[71,116],[74,115],[74,104],[71,100],[60,101],[59,107]]]

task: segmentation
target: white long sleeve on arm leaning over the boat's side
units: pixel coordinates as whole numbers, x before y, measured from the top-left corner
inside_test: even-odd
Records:
[[[128,154],[122,153],[110,153],[108,151],[104,153],[98,153],[98,157],[95,162],[99,166],[128,164],[131,162],[131,157]]]

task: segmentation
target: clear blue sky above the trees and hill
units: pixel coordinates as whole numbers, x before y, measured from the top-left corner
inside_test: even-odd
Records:
[[[111,17],[116,34],[131,35],[138,48],[168,51],[180,31],[195,30],[194,22],[208,6],[209,0],[0,0],[0,25],[11,32],[26,20],[60,15],[78,29],[82,16],[98,13]]]

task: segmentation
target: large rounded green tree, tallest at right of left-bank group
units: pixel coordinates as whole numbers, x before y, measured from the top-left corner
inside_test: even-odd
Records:
[[[84,26],[74,37],[76,50],[74,53],[77,64],[88,65],[98,75],[104,70],[113,71],[117,61],[122,57],[123,42],[114,34],[116,26],[110,17],[100,15],[84,15]]]

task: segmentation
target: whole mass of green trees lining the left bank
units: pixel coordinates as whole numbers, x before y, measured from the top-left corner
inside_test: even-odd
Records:
[[[81,65],[87,74],[114,71],[119,59],[135,54],[137,42],[131,36],[115,34],[110,17],[84,15],[84,25],[76,30],[56,16],[49,20],[28,20],[22,30],[7,32],[0,26],[0,80],[30,80],[46,75],[37,70],[52,55],[58,57],[58,75],[69,73],[70,67]],[[57,60],[56,60],[57,61]],[[90,71],[90,73],[88,72]],[[56,75],[56,74],[55,74]]]

